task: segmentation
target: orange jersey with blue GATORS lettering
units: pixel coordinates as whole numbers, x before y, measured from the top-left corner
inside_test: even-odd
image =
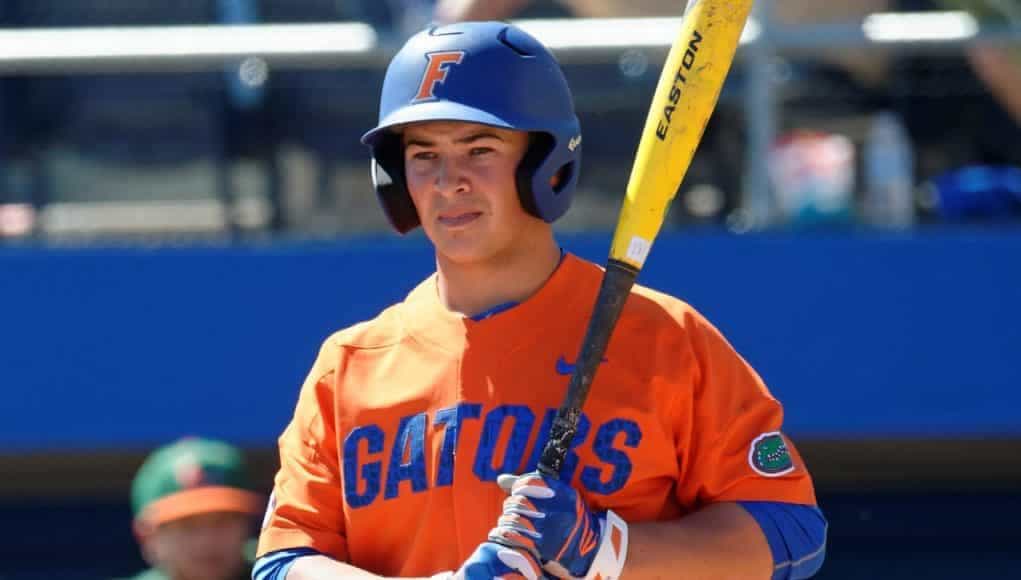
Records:
[[[456,570],[496,525],[501,473],[534,470],[601,280],[567,255],[476,322],[436,276],[331,336],[280,437],[258,552],[311,547],[385,576]],[[780,403],[689,305],[635,286],[562,476],[628,522],[714,501],[815,504]]]

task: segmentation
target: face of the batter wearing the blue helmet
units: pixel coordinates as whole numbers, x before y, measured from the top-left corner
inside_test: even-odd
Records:
[[[429,122],[403,131],[404,168],[423,229],[440,259],[498,260],[535,247],[548,226],[521,206],[515,173],[528,134],[473,123]]]

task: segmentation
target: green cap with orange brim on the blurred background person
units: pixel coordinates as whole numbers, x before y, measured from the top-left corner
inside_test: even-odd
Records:
[[[236,447],[189,437],[156,449],[139,469],[131,489],[135,519],[158,526],[210,512],[258,514],[262,497],[251,491]]]

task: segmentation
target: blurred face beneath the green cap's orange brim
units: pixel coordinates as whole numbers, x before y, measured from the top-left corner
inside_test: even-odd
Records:
[[[147,540],[147,553],[173,580],[233,580],[250,524],[249,517],[227,512],[167,522]]]

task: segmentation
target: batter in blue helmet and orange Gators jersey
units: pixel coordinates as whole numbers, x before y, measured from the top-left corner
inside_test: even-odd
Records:
[[[806,578],[826,523],[752,369],[636,286],[561,478],[536,465],[601,279],[564,252],[582,136],[556,61],[505,22],[410,38],[376,192],[436,273],[331,336],[280,437],[254,578]]]

